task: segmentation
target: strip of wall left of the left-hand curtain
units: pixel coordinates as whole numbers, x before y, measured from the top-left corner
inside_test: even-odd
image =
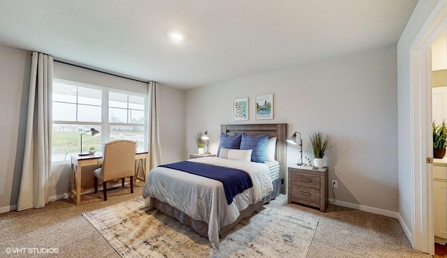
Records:
[[[0,212],[17,204],[30,70],[31,52],[0,45]]]

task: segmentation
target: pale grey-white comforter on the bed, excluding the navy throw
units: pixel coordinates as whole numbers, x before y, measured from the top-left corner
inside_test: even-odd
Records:
[[[149,172],[142,195],[149,205],[149,197],[155,197],[186,213],[194,220],[208,224],[208,238],[219,248],[219,231],[240,215],[240,211],[250,204],[261,201],[273,191],[268,167],[263,163],[242,160],[226,160],[207,157],[188,160],[221,167],[240,169],[249,174],[253,187],[236,195],[228,205],[225,191],[220,181],[207,179],[186,172],[173,171],[166,167],[156,167]]]

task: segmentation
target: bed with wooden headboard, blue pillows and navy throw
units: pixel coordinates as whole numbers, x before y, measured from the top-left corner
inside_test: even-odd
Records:
[[[186,160],[152,169],[142,190],[147,206],[157,208],[182,224],[191,226],[199,234],[207,236],[215,248],[219,248],[221,234],[270,202],[279,193],[284,194],[283,182],[286,174],[286,123],[221,125],[221,133],[253,138],[268,134],[270,140],[276,137],[274,149],[276,161],[251,162],[233,160],[229,157]],[[228,155],[230,153],[239,155],[247,151],[251,155],[251,150],[230,150]],[[182,172],[179,170],[184,168],[176,167],[185,165],[188,169],[196,167],[198,174]],[[207,169],[198,169],[202,168],[201,166]],[[224,173],[217,172],[219,169],[226,170]],[[251,179],[248,183],[240,183],[243,179],[237,179],[237,185],[244,186],[240,186],[239,192],[233,192],[233,195],[228,195],[228,185],[226,186],[225,182],[205,177],[206,175],[200,176],[200,173],[208,172],[228,175],[227,172],[233,173],[228,171],[230,169],[235,170],[235,173],[242,170],[246,172],[242,174],[249,174]]]

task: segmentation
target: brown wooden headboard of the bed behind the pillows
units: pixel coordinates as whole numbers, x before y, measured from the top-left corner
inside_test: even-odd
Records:
[[[226,134],[239,134],[242,132],[247,135],[263,135],[269,134],[269,138],[277,137],[276,159],[279,162],[281,177],[281,194],[286,194],[286,140],[287,140],[287,123],[258,123],[258,124],[235,124],[221,125],[221,132]]]

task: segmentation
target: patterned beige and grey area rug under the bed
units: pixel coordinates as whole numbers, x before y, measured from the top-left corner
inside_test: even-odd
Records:
[[[141,197],[82,215],[122,257],[306,257],[318,225],[280,195],[224,234],[217,250],[191,227],[143,206]]]

